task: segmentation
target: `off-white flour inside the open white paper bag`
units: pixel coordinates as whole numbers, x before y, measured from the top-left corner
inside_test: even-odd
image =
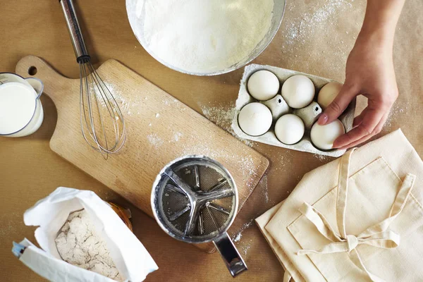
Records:
[[[54,241],[65,262],[123,281],[111,259],[106,241],[97,234],[85,209],[69,214]]]

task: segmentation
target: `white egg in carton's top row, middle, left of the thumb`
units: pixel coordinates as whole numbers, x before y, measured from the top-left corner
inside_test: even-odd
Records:
[[[314,84],[304,75],[294,75],[282,85],[282,97],[291,108],[301,109],[314,99]]]

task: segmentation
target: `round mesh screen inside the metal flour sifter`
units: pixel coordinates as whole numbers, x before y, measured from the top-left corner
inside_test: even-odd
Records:
[[[204,162],[188,162],[173,168],[191,190],[202,194],[210,191],[234,190],[231,181],[217,166],[204,164]],[[227,180],[226,183],[222,183]],[[216,188],[216,184],[221,183]],[[199,185],[198,185],[199,184]],[[221,199],[207,201],[202,204],[199,212],[199,219],[195,222],[195,229],[192,234],[185,235],[185,228],[190,220],[190,200],[178,188],[176,183],[169,177],[161,185],[161,212],[163,214],[164,225],[180,238],[189,237],[196,241],[209,240],[222,231],[226,231],[231,219],[234,216],[235,192],[233,195]],[[201,217],[201,219],[200,219]],[[202,224],[201,224],[202,222]]]

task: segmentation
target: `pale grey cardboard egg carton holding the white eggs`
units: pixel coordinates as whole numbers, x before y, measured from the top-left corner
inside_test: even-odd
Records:
[[[314,87],[316,88],[316,92],[314,95],[314,102],[317,102],[317,94],[319,94],[321,87],[323,87],[329,82],[335,81],[335,80],[330,80],[328,78],[321,78],[319,76],[309,75],[307,73],[300,73],[298,71],[287,70],[285,68],[277,68],[275,66],[264,66],[264,65],[257,65],[257,64],[251,64],[249,66],[246,66],[244,70],[243,78],[240,82],[240,92],[238,93],[238,99],[236,100],[235,116],[233,117],[233,121],[232,121],[232,128],[235,131],[235,134],[243,139],[262,142],[264,144],[283,147],[286,149],[294,149],[297,151],[309,152],[313,154],[321,154],[321,155],[330,156],[330,157],[342,156],[345,153],[345,149],[343,150],[331,149],[328,151],[324,151],[324,150],[318,149],[317,147],[314,147],[310,139],[310,130],[308,129],[305,130],[305,134],[304,134],[304,137],[302,137],[302,140],[300,140],[300,142],[294,145],[283,144],[281,141],[278,140],[278,138],[276,138],[276,135],[274,132],[274,125],[276,121],[272,123],[271,128],[269,129],[268,132],[264,133],[264,135],[250,136],[245,134],[243,130],[241,130],[240,126],[238,125],[238,114],[240,113],[240,110],[243,109],[243,107],[247,104],[250,104],[252,102],[260,102],[254,99],[253,97],[251,97],[250,94],[248,93],[247,81],[253,73],[255,73],[256,71],[261,71],[261,70],[271,71],[278,77],[279,82],[281,82],[279,87],[279,92],[278,92],[279,94],[281,93],[281,87],[283,85],[283,82],[285,82],[285,80],[287,80],[291,76],[293,75],[307,76],[307,78],[312,80],[312,82],[314,83]],[[294,109],[291,109],[290,113],[293,113],[293,110]],[[312,115],[313,113],[310,112],[309,114]],[[347,132],[353,129],[354,114],[355,114],[355,99],[353,100],[353,102],[351,102],[348,108],[345,109],[343,114],[339,117],[340,121],[345,126],[345,130]],[[309,118],[313,118],[313,117],[310,116]]]

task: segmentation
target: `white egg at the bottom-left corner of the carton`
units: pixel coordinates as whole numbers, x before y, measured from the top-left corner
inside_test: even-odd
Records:
[[[247,135],[259,136],[271,127],[271,111],[264,104],[251,103],[241,109],[238,124]]]

